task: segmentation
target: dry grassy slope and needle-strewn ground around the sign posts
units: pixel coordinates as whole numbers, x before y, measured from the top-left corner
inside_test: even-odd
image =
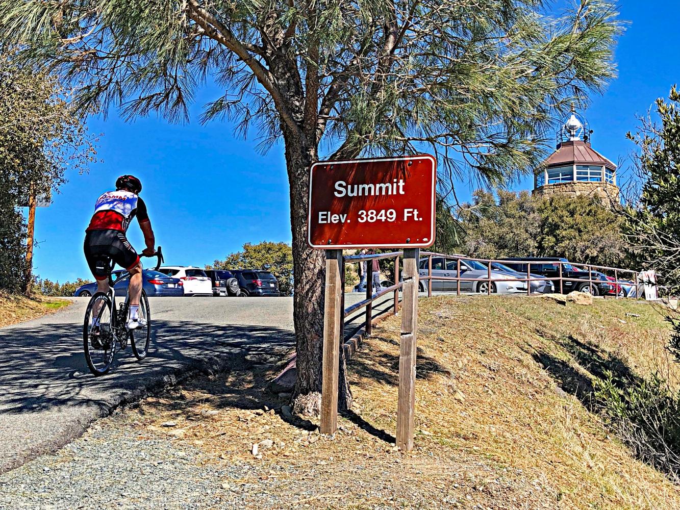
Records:
[[[275,494],[276,508],[680,508],[677,486],[590,411],[594,381],[607,371],[674,379],[668,326],[650,305],[421,299],[408,454],[393,447],[399,329],[398,317],[382,322],[350,362],[355,405],[333,439],[271,410],[288,397],[267,393],[274,371],[245,360],[104,426],[201,449],[207,471],[239,466],[241,479],[214,482],[225,505],[269,508],[263,498]]]

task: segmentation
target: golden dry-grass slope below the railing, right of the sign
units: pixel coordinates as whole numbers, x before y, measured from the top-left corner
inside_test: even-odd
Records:
[[[517,508],[524,508],[520,501],[532,508],[680,508],[677,486],[632,458],[588,411],[594,382],[609,373],[677,380],[658,310],[631,301],[583,307],[500,297],[442,297],[420,306],[416,423],[432,433],[418,438],[421,447],[436,442],[450,460],[475,454],[496,473],[522,473],[534,490]],[[371,371],[391,377],[396,365],[379,360],[396,359],[390,341],[398,326],[387,322],[381,337],[369,340],[378,360]],[[367,366],[362,359],[358,367]],[[377,411],[396,397],[386,392],[376,402],[375,378],[358,382],[371,388],[367,405]],[[381,425],[394,427],[392,418]]]

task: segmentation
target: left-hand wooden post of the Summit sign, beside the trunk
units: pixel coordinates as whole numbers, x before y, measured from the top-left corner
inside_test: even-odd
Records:
[[[335,434],[338,424],[338,371],[343,321],[342,250],[326,250],[324,356],[322,364],[321,433]]]

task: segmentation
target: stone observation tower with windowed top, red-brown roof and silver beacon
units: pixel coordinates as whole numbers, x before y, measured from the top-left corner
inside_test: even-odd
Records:
[[[534,194],[586,194],[599,197],[605,205],[618,201],[616,165],[590,146],[591,133],[572,107],[571,116],[558,131],[556,151],[534,173]]]

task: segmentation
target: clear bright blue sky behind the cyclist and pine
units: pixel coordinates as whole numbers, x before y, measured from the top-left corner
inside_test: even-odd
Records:
[[[560,1],[562,3],[562,1]],[[619,78],[585,112],[594,129],[593,147],[611,160],[632,149],[627,131],[658,97],[679,81],[675,0],[619,2],[621,18],[630,24],[616,50]],[[92,206],[122,173],[137,175],[158,244],[168,264],[203,266],[239,250],[245,242],[290,241],[290,203],[283,150],[261,156],[256,141],[235,139],[232,126],[197,122],[200,106],[216,97],[203,90],[188,125],[162,119],[122,122],[112,114],[92,118],[92,133],[103,133],[90,172],[67,175],[69,182],[50,207],[37,211],[35,273],[61,282],[90,274],[82,240]],[[515,189],[532,187],[527,177]],[[471,185],[459,183],[458,197],[468,198]],[[136,222],[129,238],[143,248]]]

